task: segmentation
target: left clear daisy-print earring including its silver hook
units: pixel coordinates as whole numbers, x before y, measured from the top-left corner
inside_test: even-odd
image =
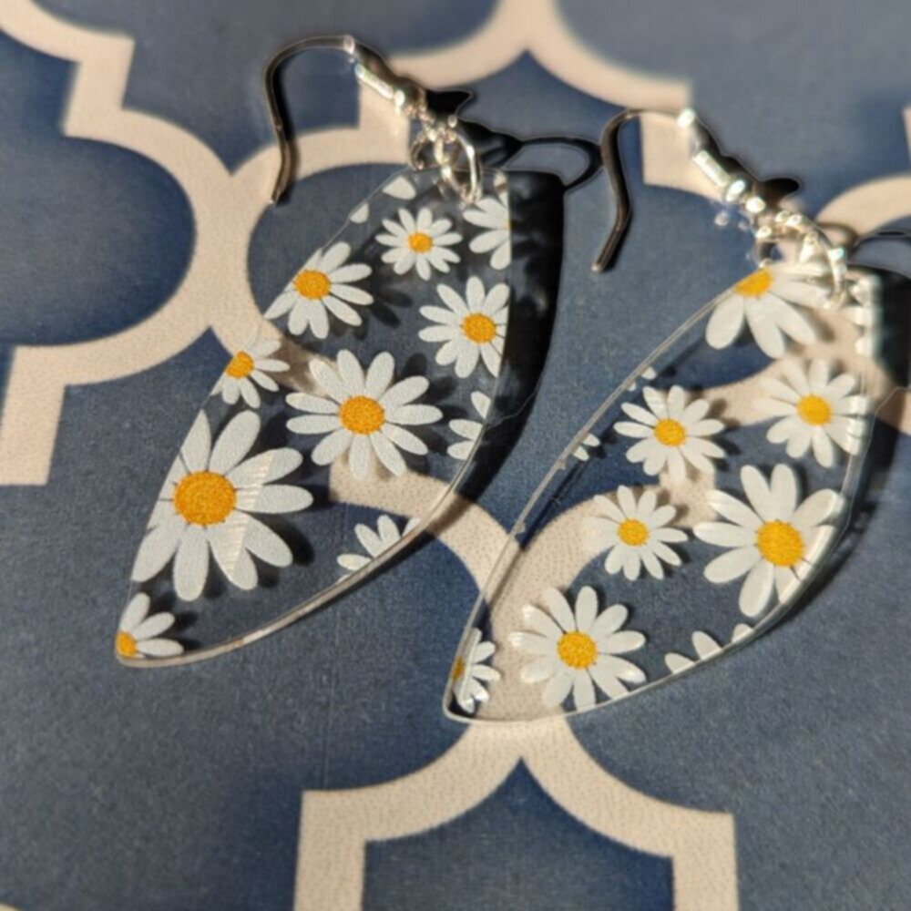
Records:
[[[138,541],[114,642],[134,667],[238,648],[363,581],[445,504],[496,397],[510,301],[506,174],[369,48],[308,38],[266,67],[281,151],[273,202],[292,175],[273,83],[311,48],[343,51],[363,85],[415,121],[409,167],[321,248],[301,251],[257,331],[230,353]],[[382,510],[364,505],[376,502]],[[491,653],[478,645],[468,656],[466,704],[494,679]]]

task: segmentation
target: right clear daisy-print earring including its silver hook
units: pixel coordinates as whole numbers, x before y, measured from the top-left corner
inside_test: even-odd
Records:
[[[644,113],[601,140],[617,222],[598,270],[630,221],[619,129]],[[688,138],[755,265],[609,394],[522,510],[457,652],[456,670],[483,653],[482,676],[468,697],[455,671],[446,686],[461,721],[588,711],[742,646],[800,598],[849,519],[885,392],[875,275],[691,110],[650,116]]]

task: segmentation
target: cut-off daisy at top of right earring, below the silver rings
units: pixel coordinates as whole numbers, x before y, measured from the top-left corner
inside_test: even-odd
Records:
[[[814,342],[816,333],[793,304],[820,307],[828,292],[810,280],[825,273],[809,265],[782,262],[763,266],[734,285],[731,294],[715,307],[705,327],[705,340],[712,348],[726,348],[740,335],[743,322],[763,353],[781,357],[784,336],[795,342]]]

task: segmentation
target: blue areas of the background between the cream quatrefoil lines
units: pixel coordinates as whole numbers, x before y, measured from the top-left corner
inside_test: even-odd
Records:
[[[135,36],[126,104],[177,121],[230,167],[269,141],[258,77],[282,41],[351,29],[389,52],[426,49],[466,36],[490,9],[45,5]],[[905,0],[561,8],[611,59],[689,79],[724,145],[765,174],[802,179],[807,210],[908,167]],[[92,338],[154,312],[186,268],[192,225],[153,163],[60,135],[69,64],[0,36],[0,74],[2,382],[15,343]],[[295,63],[285,85],[302,128],[354,116],[338,61]],[[616,110],[527,56],[471,88],[472,116],[522,131],[595,138]],[[632,175],[636,220],[607,277],[588,268],[609,219],[606,182],[567,200],[545,374],[481,498],[505,524],[609,389],[742,271],[742,239],[715,229],[703,200],[643,189]],[[251,242],[254,291],[273,232],[296,232],[303,258],[377,179],[373,168],[323,175],[299,188],[328,200],[306,218],[264,215]],[[911,260],[901,244],[865,258],[905,271]],[[148,674],[110,660],[148,504],[223,357],[207,335],[143,374],[70,389],[49,483],[0,488],[0,901],[23,911],[284,911],[303,789],[392,779],[464,733],[441,716],[439,696],[475,592],[435,543],[222,660]],[[574,722],[633,787],[734,814],[744,911],[911,906],[906,438],[882,484],[844,567],[792,620],[679,684]],[[660,859],[575,823],[519,769],[466,817],[372,845],[366,906],[664,911],[668,875]],[[570,881],[588,887],[567,891]]]

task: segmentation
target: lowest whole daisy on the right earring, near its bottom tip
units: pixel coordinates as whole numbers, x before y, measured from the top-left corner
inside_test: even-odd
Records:
[[[572,691],[578,710],[595,704],[595,685],[611,699],[627,693],[626,683],[644,683],[645,674],[618,655],[640,649],[645,636],[622,630],[630,613],[622,604],[613,604],[598,613],[595,589],[579,589],[576,609],[557,589],[542,596],[549,616],[527,604],[522,609],[527,630],[514,632],[509,641],[517,649],[536,656],[522,668],[527,683],[548,681],[541,700],[548,708],[560,705]]]

